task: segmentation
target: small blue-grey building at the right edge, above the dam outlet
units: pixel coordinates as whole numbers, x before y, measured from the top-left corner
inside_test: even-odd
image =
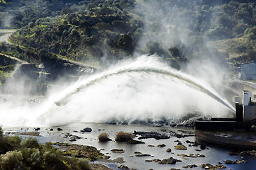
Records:
[[[241,80],[256,80],[256,62],[241,65]]]

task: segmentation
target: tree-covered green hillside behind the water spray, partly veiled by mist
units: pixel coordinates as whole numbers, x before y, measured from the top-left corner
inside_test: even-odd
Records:
[[[67,59],[102,68],[141,54],[177,69],[255,60],[252,0],[6,0],[0,8],[1,28],[18,29],[0,52],[37,65]]]

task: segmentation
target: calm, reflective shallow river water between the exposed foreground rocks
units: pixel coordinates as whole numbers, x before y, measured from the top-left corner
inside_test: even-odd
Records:
[[[50,131],[50,128],[53,128],[53,131]],[[57,128],[62,128],[62,131],[57,131]],[[84,128],[91,128],[91,132],[82,133],[80,130]],[[33,128],[23,127],[21,128],[6,128],[6,132],[9,131],[33,131]],[[230,150],[223,149],[220,147],[214,146],[206,146],[206,149],[201,149],[201,151],[196,151],[196,149],[200,149],[199,146],[189,147],[189,143],[186,141],[194,142],[195,137],[189,136],[184,138],[170,137],[167,140],[155,140],[155,139],[144,139],[142,140],[145,144],[131,145],[123,142],[115,142],[116,132],[134,132],[143,131],[143,132],[160,132],[164,134],[170,134],[171,132],[177,132],[179,134],[188,135],[193,134],[194,130],[192,129],[182,129],[182,128],[170,128],[168,126],[163,127],[153,127],[148,125],[106,125],[106,124],[98,124],[98,123],[70,123],[69,125],[62,125],[58,127],[49,127],[49,128],[41,128],[39,130],[40,137],[38,140],[41,143],[45,142],[67,142],[74,143],[79,145],[89,145],[96,147],[97,149],[101,149],[101,152],[110,156],[110,159],[116,159],[118,157],[122,157],[124,160],[123,165],[128,166],[129,168],[143,170],[143,169],[184,169],[182,166],[187,166],[191,164],[196,164],[198,167],[193,169],[201,169],[201,164],[213,164],[216,165],[218,162],[221,162],[223,165],[227,167],[227,169],[253,169],[255,167],[255,159],[252,157],[242,157],[242,156],[229,156],[228,152]],[[72,135],[77,135],[82,137],[82,139],[77,140],[75,142],[69,142],[69,138],[65,138],[65,133],[70,132]],[[113,141],[110,142],[99,142],[97,136],[102,132],[106,132]],[[26,136],[23,136],[26,137]],[[135,138],[138,140],[138,137]],[[177,150],[174,149],[174,146],[177,145],[177,140],[182,142],[182,145],[187,147],[187,150]],[[165,147],[157,147],[157,145],[165,144]],[[148,145],[152,145],[154,147],[148,147]],[[166,152],[166,149],[172,149],[171,153]],[[123,154],[115,154],[111,152],[111,149],[124,149],[125,152]],[[150,154],[152,157],[135,157],[134,152],[141,152],[143,154]],[[182,158],[179,154],[203,154],[205,157],[191,158],[187,159]],[[180,159],[182,162],[177,162],[176,164],[157,164],[155,162],[145,162],[145,160],[150,159],[167,159],[169,157],[173,157],[175,159]],[[245,160],[247,163],[242,164],[225,164],[226,160]],[[118,169],[118,166],[121,164],[118,163],[104,163],[104,162],[96,162],[105,164],[111,169]]]

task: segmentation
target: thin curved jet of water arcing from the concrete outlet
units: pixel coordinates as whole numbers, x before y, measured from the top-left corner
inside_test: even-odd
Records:
[[[120,70],[118,72],[111,72],[111,73],[108,73],[108,74],[104,74],[101,77],[93,79],[93,80],[87,82],[86,84],[82,84],[81,86],[77,87],[74,91],[65,95],[65,97],[61,98],[59,101],[56,101],[55,104],[57,106],[62,106],[62,105],[65,104],[65,102],[64,102],[65,99],[64,98],[68,98],[69,96],[77,94],[80,90],[85,89],[85,88],[95,84],[97,81],[100,81],[101,79],[106,79],[108,77],[112,77],[112,76],[117,75],[117,74],[125,74],[125,73],[128,73],[128,72],[138,72],[138,73],[141,73],[141,72],[150,73],[150,72],[152,72],[152,73],[167,75],[167,76],[170,76],[170,77],[175,77],[175,78],[177,78],[181,81],[184,81],[188,84],[191,84],[192,86],[196,87],[200,91],[204,92],[204,94],[207,94],[208,96],[211,96],[211,98],[214,98],[216,101],[218,101],[219,103],[222,103],[224,106],[228,107],[231,111],[235,112],[235,108],[233,108],[233,106],[231,106],[228,102],[224,101],[223,98],[221,98],[221,96],[218,96],[217,94],[214,94],[213,92],[211,92],[206,87],[196,83],[195,81],[192,81],[191,79],[188,79],[186,77],[182,77],[182,75],[180,75],[180,74],[175,74],[175,73],[172,73],[172,72],[168,72],[166,70],[155,69],[155,68],[123,69],[123,70]]]

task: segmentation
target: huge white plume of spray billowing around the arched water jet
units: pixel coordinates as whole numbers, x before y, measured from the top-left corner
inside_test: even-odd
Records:
[[[8,115],[0,114],[0,125],[172,120],[195,111],[220,116],[228,113],[226,106],[233,109],[204,81],[170,68],[156,56],[120,63],[62,89],[35,106],[1,104]]]

